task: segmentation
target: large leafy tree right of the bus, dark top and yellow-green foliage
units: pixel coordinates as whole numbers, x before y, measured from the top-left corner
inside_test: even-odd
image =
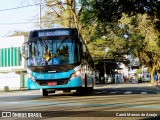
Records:
[[[97,0],[87,23],[95,23],[96,36],[106,36],[110,53],[131,54],[153,74],[159,69],[160,2],[154,0]],[[86,12],[87,13],[87,12]],[[86,21],[84,21],[86,22]],[[103,42],[102,42],[103,43]]]

